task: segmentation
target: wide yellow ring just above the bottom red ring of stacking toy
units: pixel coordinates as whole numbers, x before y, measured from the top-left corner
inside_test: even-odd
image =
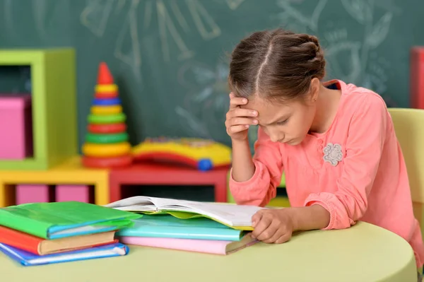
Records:
[[[83,145],[84,155],[90,157],[116,157],[118,155],[128,155],[131,152],[131,145],[128,142],[114,144],[85,143]]]

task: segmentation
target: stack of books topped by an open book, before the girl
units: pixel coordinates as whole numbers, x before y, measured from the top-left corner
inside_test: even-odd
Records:
[[[107,207],[143,214],[134,225],[117,232],[128,245],[230,254],[254,245],[252,216],[258,206],[203,203],[134,196]]]

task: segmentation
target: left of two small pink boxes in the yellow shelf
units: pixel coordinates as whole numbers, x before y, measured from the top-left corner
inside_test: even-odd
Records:
[[[52,189],[44,184],[16,185],[16,204],[48,203],[52,201]]]

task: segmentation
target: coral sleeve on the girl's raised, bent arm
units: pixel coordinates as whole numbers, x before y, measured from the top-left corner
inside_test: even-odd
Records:
[[[283,175],[283,163],[280,145],[272,142],[260,127],[254,143],[253,163],[254,175],[245,182],[236,182],[231,169],[230,192],[237,204],[266,206],[276,196],[276,187]]]

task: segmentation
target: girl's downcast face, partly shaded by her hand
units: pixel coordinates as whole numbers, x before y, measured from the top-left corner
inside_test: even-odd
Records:
[[[315,116],[315,103],[293,100],[284,104],[259,97],[242,106],[258,112],[259,127],[273,142],[298,145],[305,139]]]

